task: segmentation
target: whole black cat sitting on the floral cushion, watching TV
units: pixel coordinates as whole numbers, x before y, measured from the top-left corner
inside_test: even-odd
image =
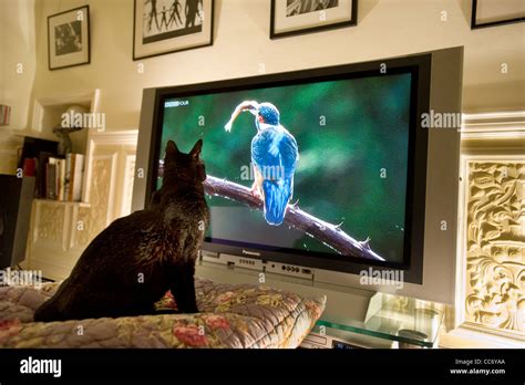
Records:
[[[202,146],[183,154],[167,143],[163,186],[150,207],[96,236],[34,321],[153,314],[169,289],[181,312],[198,312],[195,260],[209,220]]]

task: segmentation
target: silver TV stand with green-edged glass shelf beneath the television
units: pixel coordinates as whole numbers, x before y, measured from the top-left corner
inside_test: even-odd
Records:
[[[202,258],[197,262],[196,275],[220,283],[266,284],[301,295],[327,295],[326,310],[305,340],[309,347],[403,348],[434,347],[437,344],[444,318],[440,304],[278,274],[249,263],[246,266],[249,267]]]

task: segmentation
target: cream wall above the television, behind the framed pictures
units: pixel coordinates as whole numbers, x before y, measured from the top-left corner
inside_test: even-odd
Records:
[[[85,3],[91,8],[91,64],[49,71],[47,17]],[[274,73],[464,45],[464,110],[523,110],[524,23],[471,31],[470,3],[360,0],[358,27],[271,41],[269,0],[216,0],[213,46],[133,62],[132,0],[39,0],[33,97],[99,87],[107,128],[131,128],[138,125],[144,87],[256,75],[259,63]],[[502,63],[507,74],[501,73]]]

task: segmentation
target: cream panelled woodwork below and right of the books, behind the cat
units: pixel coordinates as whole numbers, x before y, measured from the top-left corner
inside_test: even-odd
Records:
[[[65,279],[91,240],[131,212],[137,135],[136,129],[90,132],[82,201],[33,200],[29,269]]]

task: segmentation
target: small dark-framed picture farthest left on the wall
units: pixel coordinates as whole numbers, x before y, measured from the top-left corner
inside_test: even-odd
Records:
[[[90,55],[89,6],[48,17],[50,70],[89,64]]]

